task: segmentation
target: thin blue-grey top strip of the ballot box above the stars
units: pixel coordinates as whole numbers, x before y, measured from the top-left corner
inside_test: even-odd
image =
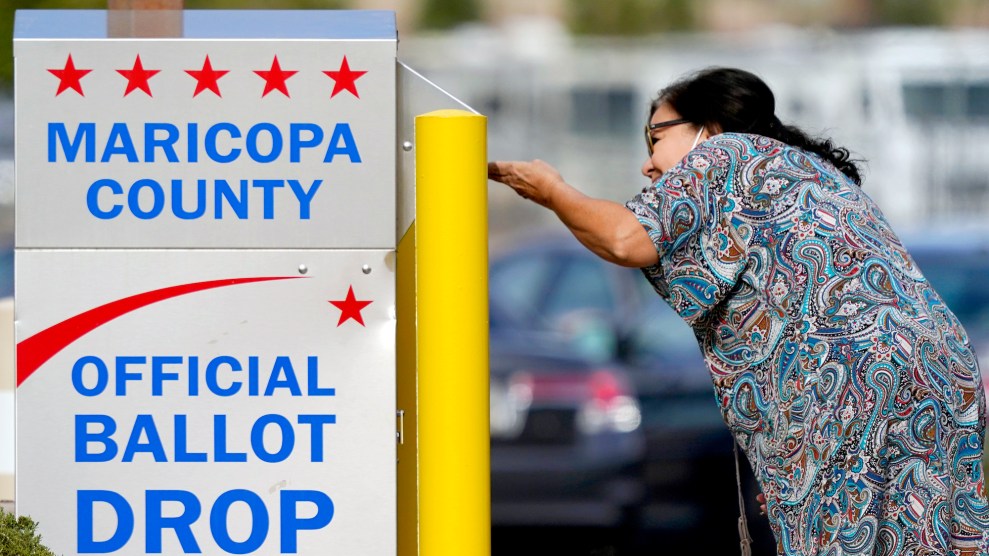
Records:
[[[185,10],[183,29],[186,39],[397,38],[395,13],[383,10]],[[105,10],[18,10],[16,13],[15,40],[106,37]]]

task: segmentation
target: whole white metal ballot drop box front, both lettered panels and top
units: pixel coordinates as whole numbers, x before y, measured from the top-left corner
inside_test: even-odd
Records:
[[[395,553],[388,16],[18,13],[16,498],[56,553]]]

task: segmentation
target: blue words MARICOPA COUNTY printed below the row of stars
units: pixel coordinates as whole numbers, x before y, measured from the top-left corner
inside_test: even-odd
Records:
[[[316,123],[278,126],[261,122],[241,129],[219,122],[200,129],[197,123],[180,127],[168,122],[109,127],[82,122],[74,128],[64,122],[48,124],[48,162],[57,163],[172,163],[213,162],[226,165],[238,160],[260,164],[330,164],[345,157],[362,162],[350,124],[336,123],[332,130]],[[315,158],[315,160],[314,160]],[[160,170],[159,170],[160,171]],[[247,220],[312,217],[312,205],[322,179],[171,179],[138,178],[128,182],[105,177],[90,183],[86,208],[100,220],[129,215],[152,220],[171,214],[179,220],[210,218]],[[252,202],[253,199],[253,202]],[[258,207],[260,205],[260,210]],[[211,209],[211,210],[210,210]]]

